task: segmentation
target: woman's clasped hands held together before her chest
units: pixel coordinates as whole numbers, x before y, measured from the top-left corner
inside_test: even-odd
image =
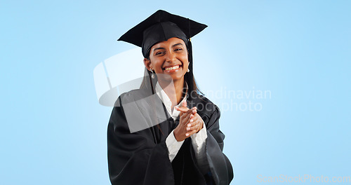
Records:
[[[189,109],[187,108],[187,102],[184,101],[181,107],[174,107],[174,109],[180,111],[179,125],[173,131],[178,142],[199,132],[204,127],[204,121],[197,114],[197,107]]]

